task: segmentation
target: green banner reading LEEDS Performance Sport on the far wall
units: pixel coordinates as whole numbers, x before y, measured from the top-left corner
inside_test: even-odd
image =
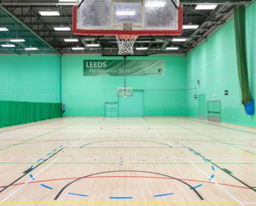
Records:
[[[84,76],[124,76],[124,60],[84,60]],[[126,76],[165,76],[165,60],[126,60]]]

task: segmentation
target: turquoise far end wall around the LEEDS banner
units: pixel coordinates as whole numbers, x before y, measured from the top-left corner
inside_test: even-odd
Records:
[[[63,56],[62,80],[65,116],[104,116],[104,102],[117,101],[117,88],[124,77],[84,77],[83,60],[123,59],[122,57]],[[164,59],[164,77],[127,77],[127,87],[144,92],[145,116],[185,115],[184,57],[128,57],[127,59]],[[88,95],[85,95],[88,94]],[[94,96],[92,94],[95,94]],[[128,97],[127,97],[128,98]]]

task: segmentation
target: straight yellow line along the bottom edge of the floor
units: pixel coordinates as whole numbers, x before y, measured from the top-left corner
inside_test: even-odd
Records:
[[[240,204],[239,202],[0,202],[0,204]]]

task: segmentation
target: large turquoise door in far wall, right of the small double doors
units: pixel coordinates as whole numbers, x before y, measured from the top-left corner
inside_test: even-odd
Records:
[[[133,90],[131,97],[118,97],[118,116],[144,116],[144,90]]]

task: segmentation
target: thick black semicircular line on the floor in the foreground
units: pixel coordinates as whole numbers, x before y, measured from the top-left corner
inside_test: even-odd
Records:
[[[150,171],[137,171],[137,170],[117,170],[117,171],[103,171],[102,173],[95,173],[95,174],[92,174],[92,175],[87,175],[87,176],[84,176],[84,177],[81,177],[79,179],[76,179],[76,180],[73,180],[72,182],[66,184],[61,191],[59,191],[59,193],[56,195],[56,197],[54,198],[54,200],[58,199],[58,197],[63,193],[63,191],[72,183],[78,181],[78,180],[81,180],[83,178],[86,178],[86,177],[91,177],[91,176],[94,176],[94,175],[99,175],[99,174],[105,174],[105,173],[116,173],[116,172],[120,172],[120,171],[129,171],[129,172],[137,172],[137,173],[149,173],[149,174],[154,174],[154,175],[161,175],[161,176],[165,176],[165,177],[169,177],[169,178],[173,178],[179,182],[182,182],[184,184],[186,184],[187,186],[189,186],[191,188],[191,190],[193,190],[195,192],[195,194],[198,195],[198,197],[201,199],[201,200],[204,200],[203,197],[199,194],[199,192],[197,190],[195,190],[191,185],[189,185],[188,183],[182,181],[182,180],[179,180],[177,178],[174,178],[174,177],[171,177],[171,176],[168,176],[168,175],[163,175],[163,174],[159,174],[159,173],[152,173]]]

